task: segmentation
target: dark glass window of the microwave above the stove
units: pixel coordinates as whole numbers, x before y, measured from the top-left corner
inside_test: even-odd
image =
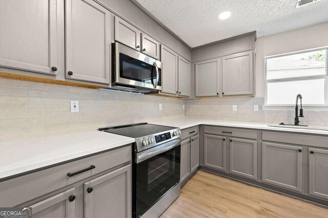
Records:
[[[152,84],[151,77],[156,81],[156,69],[153,65],[119,53],[120,77]]]

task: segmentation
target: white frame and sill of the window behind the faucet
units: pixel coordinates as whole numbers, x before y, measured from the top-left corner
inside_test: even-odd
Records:
[[[325,54],[326,73],[325,73],[325,75],[310,76],[310,77],[309,76],[290,77],[290,78],[267,80],[267,59],[286,56],[286,55],[300,54],[300,53],[304,53],[304,52],[319,51],[319,50],[326,51],[326,54]],[[265,87],[265,90],[264,90],[264,105],[262,106],[262,109],[263,110],[295,110],[295,104],[268,104],[268,96],[267,96],[268,83],[286,82],[286,81],[301,81],[301,80],[311,80],[311,79],[325,79],[325,81],[324,81],[324,85],[325,85],[324,104],[303,104],[302,107],[305,110],[311,110],[311,111],[328,111],[328,46],[264,57],[264,87]],[[295,96],[295,100],[296,100],[296,96]]]

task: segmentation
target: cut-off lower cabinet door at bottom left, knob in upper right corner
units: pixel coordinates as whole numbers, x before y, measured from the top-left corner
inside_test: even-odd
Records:
[[[32,206],[33,218],[74,218],[75,188],[61,192]]]

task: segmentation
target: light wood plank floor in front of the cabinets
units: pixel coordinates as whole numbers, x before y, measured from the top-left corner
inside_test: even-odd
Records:
[[[160,217],[328,217],[328,209],[198,170]]]

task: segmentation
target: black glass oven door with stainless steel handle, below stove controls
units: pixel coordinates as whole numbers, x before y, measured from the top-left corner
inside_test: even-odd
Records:
[[[176,139],[136,154],[133,187],[134,217],[140,217],[179,183],[180,144],[181,140]]]

